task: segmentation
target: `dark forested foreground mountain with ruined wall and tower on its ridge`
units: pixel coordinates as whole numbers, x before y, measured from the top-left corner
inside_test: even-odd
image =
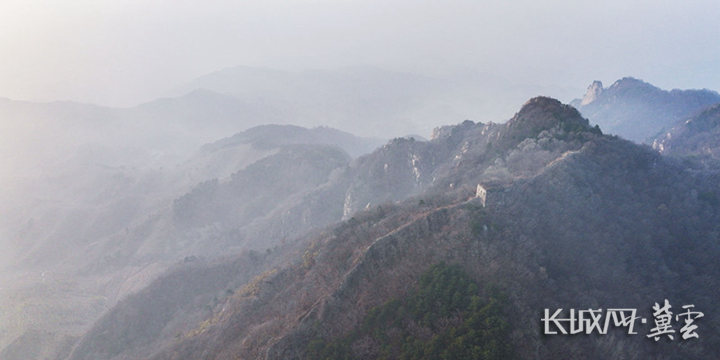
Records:
[[[358,159],[306,198],[343,197],[328,204],[344,221],[179,264],[110,310],[70,358],[715,359],[719,185],[717,172],[535,98],[507,124],[464,122]],[[465,285],[429,288],[447,282],[438,276]],[[699,338],[680,339],[679,322],[672,341],[647,337],[665,299],[705,314]],[[631,308],[648,322],[637,335],[544,335],[543,311],[560,308]]]

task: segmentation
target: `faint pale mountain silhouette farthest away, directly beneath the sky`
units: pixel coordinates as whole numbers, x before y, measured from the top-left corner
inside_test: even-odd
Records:
[[[502,119],[528,96],[527,88],[487,75],[430,77],[372,66],[299,72],[239,66],[195,79],[173,95],[197,89],[269,106],[284,123],[371,137],[427,134],[444,119]]]

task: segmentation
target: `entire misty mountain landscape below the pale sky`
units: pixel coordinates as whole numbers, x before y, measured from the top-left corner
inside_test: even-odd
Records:
[[[720,358],[720,94],[463,118],[485,94],[238,67],[0,98],[0,359]]]

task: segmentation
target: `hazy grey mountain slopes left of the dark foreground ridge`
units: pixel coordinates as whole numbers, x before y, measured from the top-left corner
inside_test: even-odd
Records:
[[[4,194],[12,201],[0,207],[2,229],[13,247],[4,254],[0,290],[13,300],[0,304],[8,314],[2,341],[10,346],[14,339],[14,345],[0,357],[33,357],[22,350],[30,343],[37,354],[69,351],[67,343],[107,306],[178,260],[266,246],[243,240],[244,232],[277,233],[279,241],[282,231],[339,220],[342,204],[329,219],[293,215],[284,227],[274,226],[288,217],[286,209],[301,209],[302,196],[333,170],[349,164],[344,149],[358,155],[378,142],[331,128],[263,126],[206,144],[175,163],[153,160],[157,153],[149,149],[112,143],[79,144],[74,152],[69,146],[55,154],[62,156],[44,176],[26,177]],[[218,197],[208,188],[221,189]],[[18,304],[32,305],[18,311]]]

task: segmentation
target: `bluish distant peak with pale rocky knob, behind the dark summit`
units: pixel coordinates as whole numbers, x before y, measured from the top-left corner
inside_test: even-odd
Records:
[[[714,91],[665,91],[626,77],[607,89],[593,82],[585,97],[571,104],[606,133],[652,143],[659,133],[675,126],[676,122],[718,102],[720,94]]]

